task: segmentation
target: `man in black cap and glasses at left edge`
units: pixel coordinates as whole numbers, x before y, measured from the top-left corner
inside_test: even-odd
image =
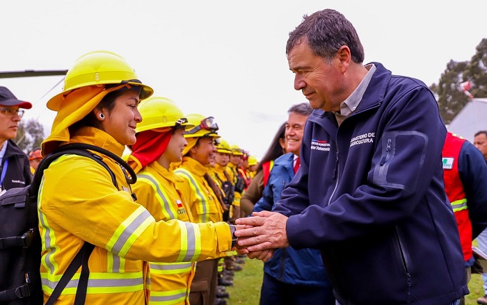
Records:
[[[24,110],[32,104],[21,101],[6,87],[0,87],[0,188],[23,188],[31,184],[29,158],[13,141]]]

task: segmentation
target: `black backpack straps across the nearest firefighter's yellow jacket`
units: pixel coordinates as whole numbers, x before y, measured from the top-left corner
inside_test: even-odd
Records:
[[[97,163],[99,163],[99,165],[102,165],[109,172],[113,185],[115,186],[115,188],[118,189],[118,183],[116,181],[115,174],[113,174],[109,166],[103,162],[102,158],[100,158],[96,154],[91,153],[90,151],[87,151],[86,149],[90,149],[92,151],[98,151],[101,154],[105,154],[106,156],[113,158],[118,163],[121,162],[120,166],[122,167],[122,169],[125,168],[125,170],[127,170],[131,175],[131,179],[134,179],[134,182],[136,181],[136,174],[134,170],[132,170],[131,167],[127,163],[125,163],[124,160],[122,160],[122,158],[113,154],[111,151],[107,151],[106,149],[102,149],[100,147],[93,146],[93,145],[86,145],[83,143],[72,143],[69,145],[63,145],[62,147],[59,147],[59,149],[56,149],[56,151],[54,151],[53,154],[50,154],[46,158],[42,159],[41,163],[38,166],[38,170],[35,171],[33,177],[33,183],[36,183],[35,186],[37,186],[36,189],[37,190],[39,189],[40,181],[42,180],[42,172],[47,167],[49,167],[52,161],[56,160],[57,158],[65,154],[76,154],[78,156],[85,156],[87,158],[95,160]],[[128,182],[129,178],[127,176],[126,178]],[[61,277],[61,280],[59,280],[58,284],[56,285],[56,288],[54,288],[53,292],[49,296],[46,305],[52,305],[54,304],[54,302],[56,302],[58,297],[61,295],[61,292],[63,292],[64,288],[67,286],[67,283],[70,282],[70,280],[72,279],[74,274],[76,274],[80,266],[81,266],[81,275],[78,281],[78,288],[76,290],[74,305],[85,304],[86,290],[88,290],[88,277],[90,275],[90,269],[88,268],[88,259],[90,258],[91,252],[93,252],[94,248],[95,246],[90,244],[89,242],[84,243],[83,247],[79,249],[79,252],[76,254],[76,256],[74,256],[70,265],[67,267],[66,271]]]

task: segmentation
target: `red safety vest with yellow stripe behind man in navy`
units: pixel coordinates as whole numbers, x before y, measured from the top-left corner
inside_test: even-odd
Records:
[[[470,217],[468,217],[467,199],[463,190],[463,184],[458,175],[458,156],[464,142],[464,138],[450,132],[447,133],[441,155],[445,191],[455,213],[463,249],[463,258],[468,261],[472,258],[472,223],[470,222]]]

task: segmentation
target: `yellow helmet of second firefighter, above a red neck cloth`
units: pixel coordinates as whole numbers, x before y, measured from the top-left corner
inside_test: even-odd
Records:
[[[190,124],[184,117],[175,102],[166,97],[149,97],[138,104],[138,111],[142,115],[142,122],[137,124],[135,129],[137,133],[164,127],[194,127],[194,124]]]

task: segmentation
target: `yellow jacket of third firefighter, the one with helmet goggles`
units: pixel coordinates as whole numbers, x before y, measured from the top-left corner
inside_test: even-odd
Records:
[[[207,171],[208,168],[197,160],[183,157],[181,165],[174,172],[184,178],[184,183],[179,188],[186,197],[195,221],[221,222],[223,208],[205,180]]]

